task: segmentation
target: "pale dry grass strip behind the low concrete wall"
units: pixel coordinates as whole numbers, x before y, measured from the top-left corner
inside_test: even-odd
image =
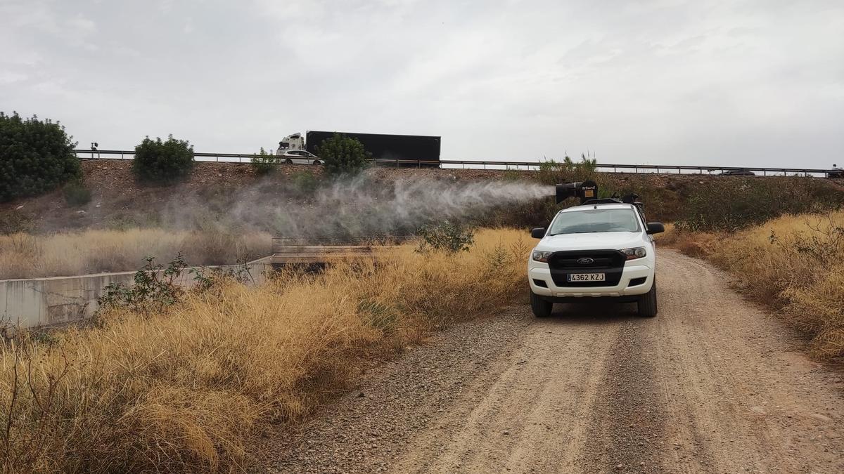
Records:
[[[192,265],[221,265],[266,256],[266,233],[220,234],[165,229],[85,230],[0,235],[0,280],[128,272],[145,256],[169,261],[181,252]]]

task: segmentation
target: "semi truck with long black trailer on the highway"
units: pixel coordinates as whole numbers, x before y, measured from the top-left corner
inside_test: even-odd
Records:
[[[279,142],[278,155],[288,155],[304,150],[319,156],[319,146],[335,133],[357,138],[364,149],[372,154],[376,164],[392,166],[440,166],[441,137],[427,135],[388,135],[383,133],[323,132],[312,130],[305,134],[294,133]]]

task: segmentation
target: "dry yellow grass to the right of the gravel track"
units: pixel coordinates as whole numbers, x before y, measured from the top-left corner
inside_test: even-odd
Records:
[[[736,234],[672,230],[659,242],[733,272],[812,337],[815,356],[844,355],[844,212],[783,216]]]

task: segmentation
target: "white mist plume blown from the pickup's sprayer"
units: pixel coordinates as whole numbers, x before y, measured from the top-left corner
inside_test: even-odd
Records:
[[[495,207],[554,193],[554,186],[527,181],[382,181],[361,175],[334,181],[303,196],[267,181],[238,191],[235,205],[214,219],[222,227],[257,228],[289,237],[406,234],[428,222],[480,218]],[[197,205],[207,206],[194,203],[188,208],[196,211]],[[186,208],[184,202],[181,208]],[[197,222],[196,216],[190,220]]]

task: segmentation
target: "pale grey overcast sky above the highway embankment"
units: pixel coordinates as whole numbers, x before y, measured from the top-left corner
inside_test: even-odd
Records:
[[[0,110],[80,148],[442,136],[443,159],[844,162],[844,2],[0,0]]]

